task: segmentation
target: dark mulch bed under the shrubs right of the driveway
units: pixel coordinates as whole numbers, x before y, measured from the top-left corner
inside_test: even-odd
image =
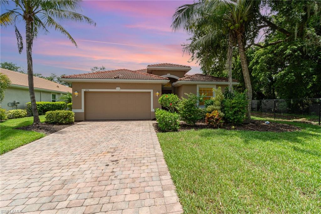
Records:
[[[158,124],[155,122],[153,123],[154,129],[156,132],[162,132],[158,128]],[[221,129],[232,129],[232,124],[224,124]],[[180,123],[180,129],[178,131],[184,131],[189,129],[215,129],[205,122],[198,122],[195,126],[191,126],[186,124],[185,122]],[[235,126],[234,130],[245,130],[245,131],[272,131],[272,132],[287,132],[287,131],[299,131],[301,130],[297,126],[288,125],[284,123],[275,123],[270,122],[269,124],[265,124],[263,120],[251,120],[248,124],[242,124]]]

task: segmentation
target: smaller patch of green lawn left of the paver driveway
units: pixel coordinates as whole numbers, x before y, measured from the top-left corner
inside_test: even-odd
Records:
[[[39,116],[40,121],[45,121],[45,115]],[[1,155],[27,143],[45,137],[43,133],[14,129],[31,125],[33,117],[24,117],[5,120],[0,123],[0,153]]]

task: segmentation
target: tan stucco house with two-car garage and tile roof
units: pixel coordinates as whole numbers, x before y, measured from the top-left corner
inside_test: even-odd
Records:
[[[169,63],[146,69],[118,69],[63,76],[73,84],[75,120],[154,119],[162,94],[206,94],[228,86],[228,79],[203,74],[186,75],[191,67]],[[238,84],[233,80],[233,85]],[[76,96],[77,94],[77,96]],[[204,103],[200,103],[200,105]]]

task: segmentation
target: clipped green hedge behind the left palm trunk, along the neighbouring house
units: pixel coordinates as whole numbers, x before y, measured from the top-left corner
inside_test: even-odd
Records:
[[[36,102],[38,114],[45,114],[47,111],[65,110],[65,102]],[[26,110],[28,115],[32,115],[31,103],[26,103]]]

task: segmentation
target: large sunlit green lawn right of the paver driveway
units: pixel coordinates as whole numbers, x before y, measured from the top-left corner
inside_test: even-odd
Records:
[[[302,130],[158,133],[185,213],[319,213],[321,127],[283,123]]]

